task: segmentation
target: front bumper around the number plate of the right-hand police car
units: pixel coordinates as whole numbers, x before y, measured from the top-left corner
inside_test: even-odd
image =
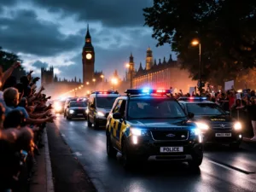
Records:
[[[231,134],[229,137],[217,137],[217,133],[228,133]],[[241,131],[207,131],[203,134],[204,143],[220,143],[220,144],[229,144],[229,143],[241,143],[242,141],[242,132]]]

